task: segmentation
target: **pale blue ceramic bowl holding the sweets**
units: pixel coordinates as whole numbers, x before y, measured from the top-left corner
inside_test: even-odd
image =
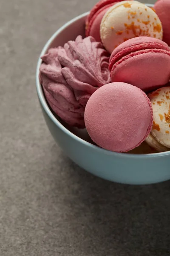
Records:
[[[62,26],[48,40],[40,56],[51,47],[84,36],[85,17],[82,14]],[[37,64],[37,93],[45,122],[56,143],[71,160],[88,172],[118,183],[150,184],[170,179],[170,151],[154,154],[115,153],[99,148],[91,143],[86,131],[63,125],[50,111],[39,81]]]

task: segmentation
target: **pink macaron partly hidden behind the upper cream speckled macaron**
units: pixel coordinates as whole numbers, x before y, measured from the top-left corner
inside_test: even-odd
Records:
[[[96,3],[96,5],[91,9],[86,21],[86,36],[91,35],[96,41],[101,42],[100,23],[102,18],[111,6],[120,1],[122,0],[100,0]]]

